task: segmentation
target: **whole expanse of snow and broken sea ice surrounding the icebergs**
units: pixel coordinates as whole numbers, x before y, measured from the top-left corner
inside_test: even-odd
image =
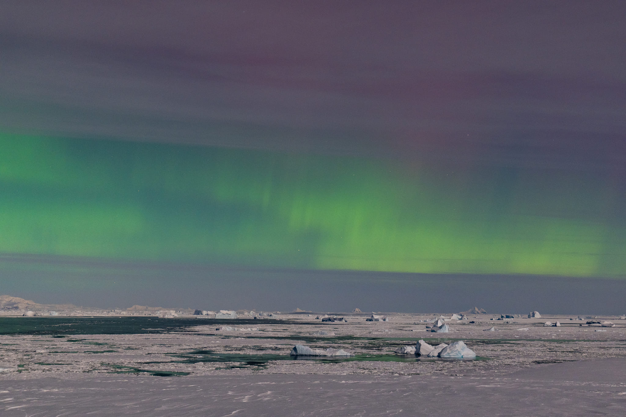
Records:
[[[562,323],[556,328],[543,326],[545,317],[480,314],[448,321],[450,332],[438,334],[426,327],[433,314],[388,316],[321,323],[283,314],[233,319],[232,330],[161,319],[156,333],[125,334],[70,330],[101,321],[90,318],[49,318],[46,329],[58,334],[33,326],[22,334],[7,329],[37,318],[5,319],[0,416],[626,415],[621,318],[597,318],[615,323],[603,328],[596,318],[549,316]],[[477,358],[394,353],[420,339],[433,346],[463,340]],[[302,359],[289,355],[295,344],[355,356]]]

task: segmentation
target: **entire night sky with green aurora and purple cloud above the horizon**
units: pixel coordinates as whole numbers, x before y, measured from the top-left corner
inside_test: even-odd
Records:
[[[623,314],[624,16],[5,1],[0,293]]]

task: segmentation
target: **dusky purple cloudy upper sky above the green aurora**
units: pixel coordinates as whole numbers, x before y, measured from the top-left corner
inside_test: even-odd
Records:
[[[4,1],[0,126],[620,170],[624,16],[621,1]]]

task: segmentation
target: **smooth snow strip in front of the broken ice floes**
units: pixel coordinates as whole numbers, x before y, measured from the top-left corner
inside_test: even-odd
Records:
[[[0,415],[626,415],[626,359],[544,364],[498,377],[119,375],[0,381]]]

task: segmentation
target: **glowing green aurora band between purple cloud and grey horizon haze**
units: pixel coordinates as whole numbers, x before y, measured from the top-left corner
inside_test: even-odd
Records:
[[[0,135],[0,254],[626,277],[603,174]]]

